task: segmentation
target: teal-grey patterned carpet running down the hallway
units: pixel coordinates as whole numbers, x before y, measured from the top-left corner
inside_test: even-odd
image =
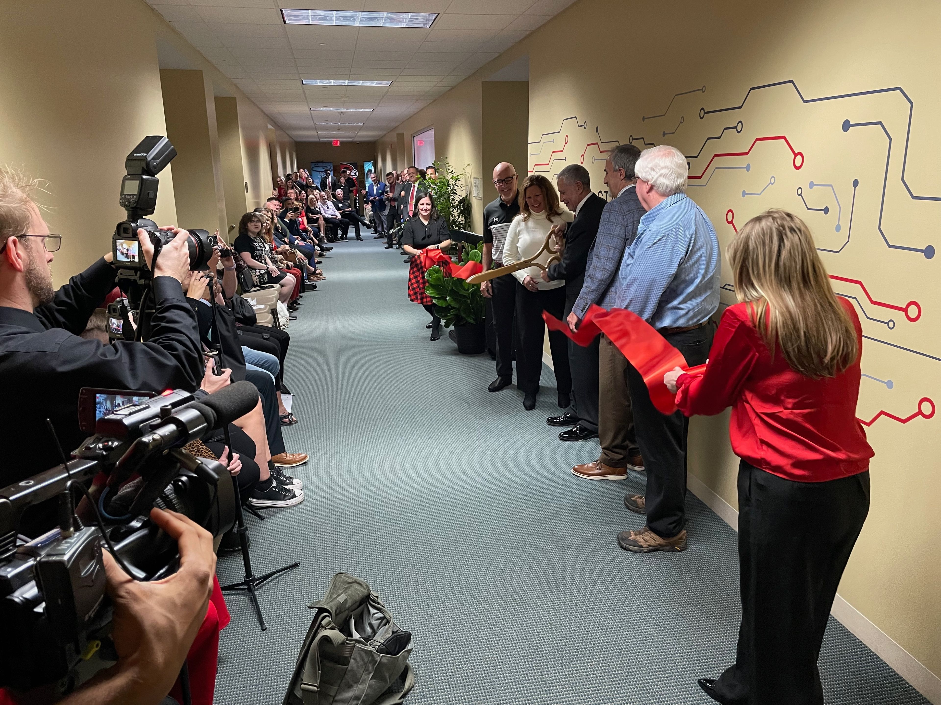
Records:
[[[414,634],[410,705],[707,705],[695,679],[731,663],[740,619],[736,534],[693,494],[690,548],[637,556],[618,531],[643,475],[590,482],[570,470],[598,441],[566,444],[544,368],[534,411],[488,394],[489,356],[428,340],[407,265],[380,241],[337,243],[327,281],[290,327],[285,429],[306,499],[247,518],[256,572],[299,560],[260,591],[268,631],[228,595],[216,703],[276,705],[332,575],[365,579]],[[223,584],[239,556],[219,560]],[[831,619],[820,660],[828,705],[924,705]]]

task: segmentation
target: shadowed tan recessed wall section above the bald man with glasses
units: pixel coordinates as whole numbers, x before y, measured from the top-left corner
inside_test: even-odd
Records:
[[[529,164],[528,135],[529,82],[484,81],[481,84],[483,203],[497,197],[497,187],[493,185],[494,165],[509,162],[517,168],[518,174],[525,175]],[[519,180],[522,181],[522,176]]]

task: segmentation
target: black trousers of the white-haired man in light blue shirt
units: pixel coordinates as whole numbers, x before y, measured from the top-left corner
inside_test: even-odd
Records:
[[[709,357],[715,326],[682,333],[663,334],[683,354],[690,367]],[[650,400],[644,378],[628,365],[630,407],[634,415],[637,445],[646,467],[646,515],[650,529],[664,539],[676,536],[686,525],[686,435],[690,419],[680,412],[662,415]]]

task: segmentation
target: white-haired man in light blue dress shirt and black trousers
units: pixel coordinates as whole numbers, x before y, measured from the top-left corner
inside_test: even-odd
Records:
[[[722,255],[709,217],[686,196],[686,157],[673,147],[646,149],[634,167],[646,213],[625,249],[615,306],[656,328],[689,366],[709,357],[719,307]],[[646,525],[617,536],[635,553],[686,549],[686,435],[689,419],[657,411],[644,378],[628,367],[637,442],[646,464],[646,495],[629,494],[628,509]]]

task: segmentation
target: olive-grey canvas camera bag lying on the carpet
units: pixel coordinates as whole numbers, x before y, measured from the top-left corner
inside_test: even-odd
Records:
[[[338,572],[316,609],[282,705],[395,705],[415,685],[411,634],[359,578]]]

